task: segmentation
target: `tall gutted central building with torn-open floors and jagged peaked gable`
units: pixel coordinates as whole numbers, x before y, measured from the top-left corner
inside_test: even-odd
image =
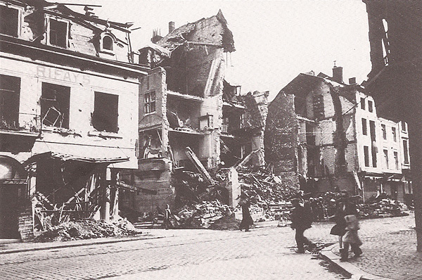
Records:
[[[197,171],[186,147],[210,172],[234,165],[252,148],[263,151],[264,122],[248,124],[245,106],[259,114],[267,95],[240,97],[240,86],[225,79],[226,56],[235,48],[222,11],[176,29],[170,22],[169,33],[155,32],[152,41],[139,50],[139,63],[153,68],[139,91],[139,169],[125,177],[146,191],[122,198],[139,212],[174,205],[172,170]]]

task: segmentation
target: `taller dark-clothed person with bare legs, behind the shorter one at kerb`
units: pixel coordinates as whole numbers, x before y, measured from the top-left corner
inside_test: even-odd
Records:
[[[330,231],[330,234],[338,236],[338,246],[340,248],[340,253],[343,250],[343,236],[346,234],[347,227],[345,216],[356,214],[356,205],[350,201],[349,193],[347,193],[347,191],[341,191],[340,199],[336,205],[335,225]]]

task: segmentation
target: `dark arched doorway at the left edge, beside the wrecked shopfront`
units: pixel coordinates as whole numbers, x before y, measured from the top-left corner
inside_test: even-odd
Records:
[[[0,155],[0,238],[20,238],[20,205],[27,193],[27,172],[13,158]]]

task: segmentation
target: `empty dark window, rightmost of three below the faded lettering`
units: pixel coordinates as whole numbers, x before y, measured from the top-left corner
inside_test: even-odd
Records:
[[[100,132],[117,133],[119,118],[119,96],[95,92],[92,126]]]

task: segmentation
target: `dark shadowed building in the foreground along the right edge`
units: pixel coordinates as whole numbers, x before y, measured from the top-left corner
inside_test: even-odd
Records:
[[[422,227],[422,2],[364,0],[372,69],[366,89],[378,110],[409,124],[416,228]],[[422,231],[416,232],[422,251]]]

